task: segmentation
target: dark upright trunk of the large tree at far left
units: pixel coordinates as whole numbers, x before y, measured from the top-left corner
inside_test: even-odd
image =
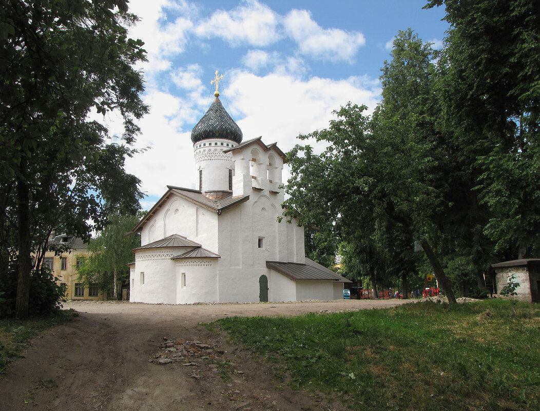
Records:
[[[21,164],[21,169],[25,163]],[[30,300],[30,270],[32,260],[30,240],[30,193],[28,182],[23,177],[17,181],[17,219],[19,224],[18,238],[18,277],[17,299],[15,301],[15,315],[19,319],[28,317]]]

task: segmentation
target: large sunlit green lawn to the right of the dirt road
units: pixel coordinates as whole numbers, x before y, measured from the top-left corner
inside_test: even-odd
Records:
[[[293,388],[351,409],[540,409],[537,304],[428,301],[218,324]]]

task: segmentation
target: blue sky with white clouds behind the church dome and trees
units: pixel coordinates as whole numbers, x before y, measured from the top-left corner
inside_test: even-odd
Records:
[[[143,102],[150,113],[138,124],[136,148],[126,171],[141,179],[148,210],[167,185],[195,188],[191,130],[213,101],[211,80],[223,79],[220,100],[244,140],[262,137],[284,152],[296,137],[328,127],[348,102],[373,112],[379,76],[399,30],[413,29],[440,48],[448,24],[427,0],[130,0],[140,21],[148,61]],[[107,114],[110,133],[121,135]],[[302,144],[305,144],[303,142]],[[317,146],[314,142],[310,144]],[[323,147],[318,147],[322,151]],[[284,180],[289,175],[284,170]]]

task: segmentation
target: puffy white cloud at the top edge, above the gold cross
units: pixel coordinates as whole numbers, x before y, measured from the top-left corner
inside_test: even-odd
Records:
[[[277,26],[278,15],[271,8],[250,0],[231,11],[215,11],[197,25],[195,32],[207,38],[223,38],[232,46],[266,46],[279,39]]]

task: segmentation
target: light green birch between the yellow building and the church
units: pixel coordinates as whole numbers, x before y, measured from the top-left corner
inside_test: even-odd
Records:
[[[137,215],[109,216],[109,224],[96,238],[90,240],[90,256],[77,268],[79,279],[85,284],[96,283],[102,290],[112,289],[114,299],[118,299],[118,284],[129,278],[127,264],[133,261],[131,250],[140,246],[140,234],[129,235],[139,217]]]

